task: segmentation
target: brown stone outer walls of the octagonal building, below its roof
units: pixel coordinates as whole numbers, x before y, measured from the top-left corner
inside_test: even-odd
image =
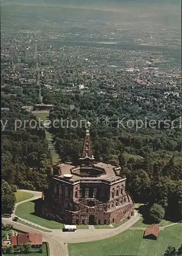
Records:
[[[125,180],[114,185],[53,182],[44,195],[42,209],[37,206],[37,211],[64,224],[106,225],[119,223],[134,214],[134,203],[125,191]]]

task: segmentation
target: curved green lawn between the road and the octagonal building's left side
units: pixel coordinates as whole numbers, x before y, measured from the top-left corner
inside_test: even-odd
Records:
[[[37,225],[40,225],[45,228],[50,228],[50,229],[56,229],[56,228],[63,228],[63,224],[56,222],[56,221],[51,221],[51,220],[46,220],[41,217],[33,215],[34,213],[34,202],[25,202],[17,206],[15,215],[28,220],[30,222],[34,222]]]

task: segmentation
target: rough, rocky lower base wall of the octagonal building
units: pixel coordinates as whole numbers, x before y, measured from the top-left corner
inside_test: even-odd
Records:
[[[50,208],[48,205],[43,205],[42,215],[59,222],[61,219],[65,224],[76,225],[106,225],[110,223],[119,223],[134,215],[133,202],[127,202],[121,206],[116,206],[110,211],[108,211],[108,204],[101,203],[98,200],[85,199],[74,204],[76,211],[66,210],[66,208],[60,208],[58,205],[54,208]],[[57,216],[59,216],[59,218]],[[93,221],[94,223],[91,223]]]

